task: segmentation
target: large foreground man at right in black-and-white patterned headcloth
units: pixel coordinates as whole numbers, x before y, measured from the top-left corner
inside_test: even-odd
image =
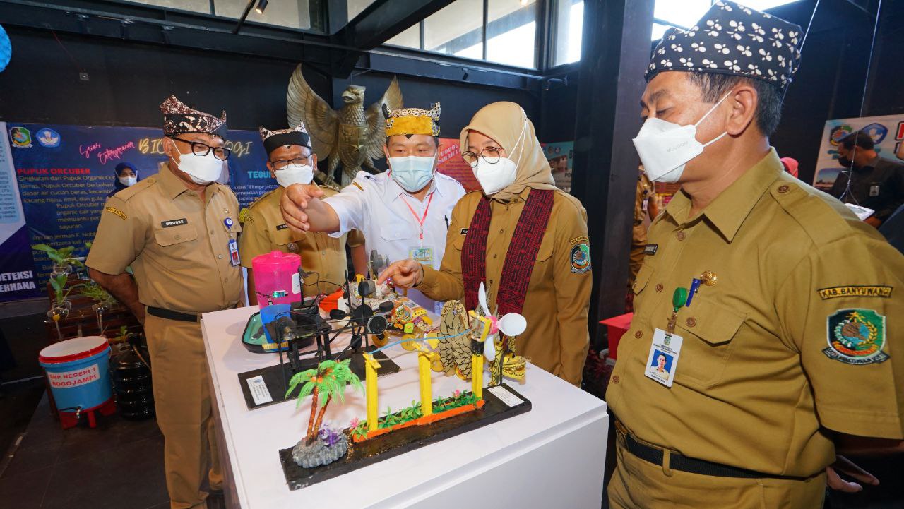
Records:
[[[653,52],[635,145],[681,191],[607,390],[610,507],[822,507],[836,446],[904,448],[904,257],[769,146],[802,35],[718,1]]]

